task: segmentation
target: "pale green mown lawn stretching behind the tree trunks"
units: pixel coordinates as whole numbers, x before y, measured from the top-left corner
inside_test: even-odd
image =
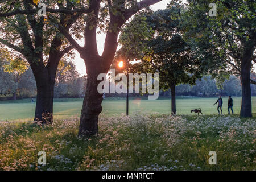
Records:
[[[189,114],[191,109],[201,108],[203,114],[217,114],[217,105],[213,106],[217,98],[177,98],[176,107],[177,114]],[[227,114],[228,98],[223,98],[224,104],[222,106],[224,114]],[[241,97],[234,97],[234,113],[239,114],[241,109]],[[252,97],[253,113],[256,114],[256,97]],[[17,119],[34,119],[35,102],[31,100],[18,101],[0,101],[0,121],[10,121]],[[102,102],[102,113],[107,115],[126,113],[125,98],[106,98]],[[55,118],[65,118],[74,114],[81,113],[82,99],[55,99],[53,104],[53,112]],[[171,100],[160,98],[159,100],[147,100],[145,97],[130,98],[129,112],[130,114],[137,111],[157,112],[160,114],[171,113]]]

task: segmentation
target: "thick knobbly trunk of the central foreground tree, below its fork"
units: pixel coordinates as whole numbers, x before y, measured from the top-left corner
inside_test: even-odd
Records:
[[[86,67],[87,68],[87,67]],[[80,136],[90,136],[98,133],[98,115],[102,111],[102,95],[98,93],[97,87],[101,80],[97,80],[98,74],[102,72],[95,68],[87,68],[87,86],[82,104],[80,117]]]

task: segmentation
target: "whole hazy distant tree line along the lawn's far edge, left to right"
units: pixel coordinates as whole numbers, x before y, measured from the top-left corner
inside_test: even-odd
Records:
[[[27,69],[17,80],[15,73],[6,72],[0,67],[0,100],[16,100],[22,98],[36,98],[36,82],[31,69]],[[256,78],[256,73],[251,73]],[[79,76],[72,62],[61,61],[56,73],[54,88],[55,98],[82,98],[85,95],[86,76]],[[231,75],[222,84],[218,84],[212,76],[204,76],[196,80],[195,85],[180,84],[176,86],[177,96],[215,97],[241,96],[240,77]],[[129,94],[140,97],[141,94]],[[256,96],[256,85],[251,84],[251,95]],[[125,97],[126,94],[106,93],[105,97]],[[160,90],[159,96],[171,96],[171,90]]]

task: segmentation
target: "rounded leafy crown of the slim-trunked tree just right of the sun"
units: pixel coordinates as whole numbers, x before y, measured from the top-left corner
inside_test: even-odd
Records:
[[[180,83],[195,84],[208,71],[190,42],[183,38],[184,7],[138,14],[127,24],[119,42],[117,57],[140,60],[130,65],[134,72],[159,72],[160,87],[168,89]]]

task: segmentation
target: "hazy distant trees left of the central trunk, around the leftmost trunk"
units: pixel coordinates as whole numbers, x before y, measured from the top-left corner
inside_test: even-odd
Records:
[[[0,65],[0,100],[16,100],[22,98],[36,98],[36,81],[29,68],[18,75],[7,72],[5,67],[9,63]],[[79,76],[72,62],[61,61],[56,73],[54,87],[55,98],[80,98],[85,94],[86,77]]]

